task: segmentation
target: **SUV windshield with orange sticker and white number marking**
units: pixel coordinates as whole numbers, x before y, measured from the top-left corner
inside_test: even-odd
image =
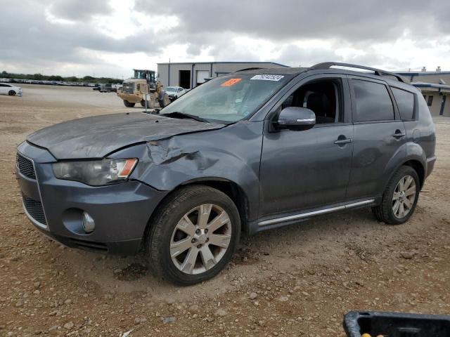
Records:
[[[290,76],[272,74],[217,77],[185,93],[160,114],[181,112],[207,121],[239,121],[255,112],[289,79]]]

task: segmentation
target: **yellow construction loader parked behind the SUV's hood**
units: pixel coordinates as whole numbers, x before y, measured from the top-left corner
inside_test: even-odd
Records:
[[[134,107],[136,103],[141,103],[143,107],[153,109],[156,103],[160,107],[165,107],[170,103],[169,95],[165,93],[160,81],[155,78],[153,70],[134,69],[134,77],[126,79],[121,89],[117,90],[117,95],[124,101],[126,107]]]

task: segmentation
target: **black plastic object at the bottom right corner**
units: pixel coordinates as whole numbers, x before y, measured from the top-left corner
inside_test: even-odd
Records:
[[[449,337],[450,316],[400,312],[347,312],[344,329],[349,337]]]

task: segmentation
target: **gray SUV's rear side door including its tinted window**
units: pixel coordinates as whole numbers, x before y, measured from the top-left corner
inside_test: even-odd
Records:
[[[347,199],[383,194],[385,182],[406,157],[403,121],[385,81],[349,76],[354,144]]]

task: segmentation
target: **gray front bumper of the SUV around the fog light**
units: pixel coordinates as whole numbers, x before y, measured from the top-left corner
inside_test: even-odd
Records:
[[[69,247],[118,255],[138,253],[148,220],[165,192],[136,180],[92,187],[56,179],[51,169],[55,160],[44,152],[27,143],[18,147],[18,153],[33,162],[35,179],[28,173],[25,176],[18,166],[16,176],[25,213],[35,227]],[[84,232],[83,212],[94,219],[94,232]]]

